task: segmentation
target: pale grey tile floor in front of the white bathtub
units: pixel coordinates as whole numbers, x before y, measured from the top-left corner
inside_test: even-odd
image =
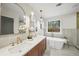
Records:
[[[49,48],[45,51],[44,56],[79,56],[79,50],[73,46],[65,45],[63,49]]]

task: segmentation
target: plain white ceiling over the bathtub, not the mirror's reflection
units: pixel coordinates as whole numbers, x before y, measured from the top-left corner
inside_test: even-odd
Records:
[[[29,5],[38,14],[41,14],[40,10],[43,10],[42,15],[44,18],[71,13],[79,9],[78,3],[62,3],[58,7],[56,7],[57,3],[30,3]]]

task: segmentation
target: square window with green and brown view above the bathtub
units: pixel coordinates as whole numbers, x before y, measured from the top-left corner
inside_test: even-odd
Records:
[[[60,32],[60,20],[48,22],[48,32]]]

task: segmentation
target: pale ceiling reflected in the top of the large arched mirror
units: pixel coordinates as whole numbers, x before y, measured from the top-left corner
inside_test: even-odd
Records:
[[[5,11],[4,9],[6,11],[10,11],[10,12],[14,13],[16,16],[18,15],[20,20],[23,19],[24,12],[17,4],[14,4],[14,3],[2,3],[1,4],[1,11]]]

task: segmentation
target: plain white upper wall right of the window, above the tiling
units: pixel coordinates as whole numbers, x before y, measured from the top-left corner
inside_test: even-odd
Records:
[[[76,13],[60,16],[63,29],[76,29]]]

